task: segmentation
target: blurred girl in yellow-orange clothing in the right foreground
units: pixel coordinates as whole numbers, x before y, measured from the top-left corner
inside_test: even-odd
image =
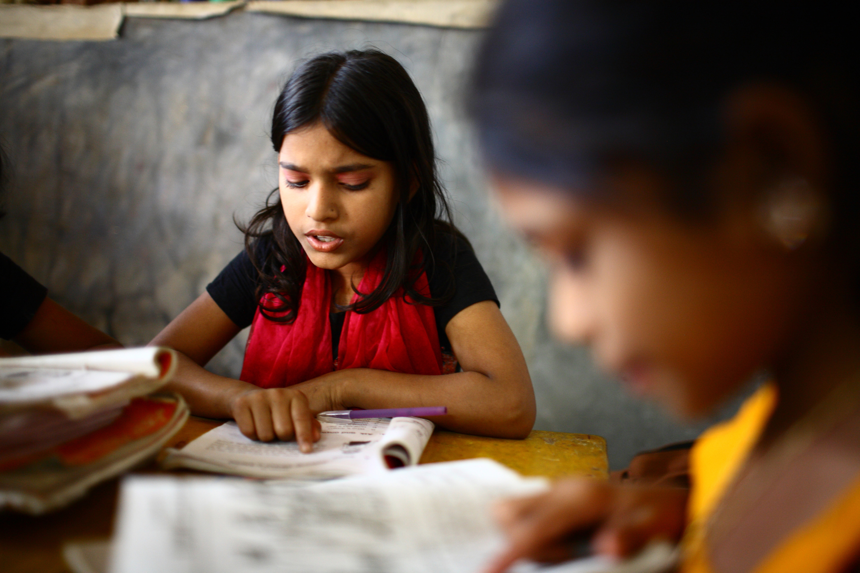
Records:
[[[501,10],[473,109],[508,220],[553,261],[555,331],[686,417],[772,382],[697,441],[689,497],[560,482],[501,506],[488,571],[569,557],[584,532],[617,556],[683,535],[697,573],[860,564],[860,51],[842,11]]]

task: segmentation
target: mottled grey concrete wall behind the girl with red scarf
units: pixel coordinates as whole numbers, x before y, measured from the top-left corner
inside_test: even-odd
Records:
[[[239,13],[128,19],[113,42],[0,40],[0,137],[15,166],[0,250],[58,302],[144,344],[241,248],[234,227],[276,185],[267,123],[299,58],[377,46],[415,78],[457,222],[525,351],[539,430],[605,436],[613,467],[695,436],[550,339],[544,269],[486,194],[461,96],[480,34]],[[237,375],[243,337],[209,368]]]

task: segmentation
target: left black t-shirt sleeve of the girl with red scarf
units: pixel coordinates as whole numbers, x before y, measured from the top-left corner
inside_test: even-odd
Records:
[[[206,285],[206,292],[239,328],[250,326],[257,309],[257,271],[244,250]]]

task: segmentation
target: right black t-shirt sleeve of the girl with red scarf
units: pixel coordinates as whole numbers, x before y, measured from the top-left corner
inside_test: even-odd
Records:
[[[493,283],[489,282],[470,244],[460,237],[449,236],[445,235],[439,241],[439,247],[433,252],[433,262],[428,262],[427,267],[431,296],[451,296],[445,304],[433,307],[439,343],[444,349],[451,348],[445,335],[445,326],[461,310],[476,302],[493,301],[499,304]]]

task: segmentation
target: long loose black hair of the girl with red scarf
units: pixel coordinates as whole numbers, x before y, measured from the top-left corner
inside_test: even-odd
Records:
[[[280,151],[288,133],[317,122],[360,154],[391,162],[400,197],[381,240],[387,247],[382,281],[376,290],[360,293],[359,301],[347,308],[371,312],[401,287],[415,302],[435,305],[449,299],[452,292],[427,298],[415,291],[421,270],[440,264],[433,259],[439,241],[464,237],[451,224],[451,208],[437,175],[427,108],[407,71],[378,50],[329,52],[311,58],[292,73],[275,103],[274,150]],[[417,191],[409,198],[412,188]],[[259,273],[258,299],[271,293],[286,305],[273,314],[275,307],[267,308],[261,301],[261,313],[271,320],[292,322],[301,299],[306,260],[286,222],[277,188],[263,209],[240,229]],[[259,248],[261,240],[268,248]],[[419,249],[423,258],[415,265]]]

